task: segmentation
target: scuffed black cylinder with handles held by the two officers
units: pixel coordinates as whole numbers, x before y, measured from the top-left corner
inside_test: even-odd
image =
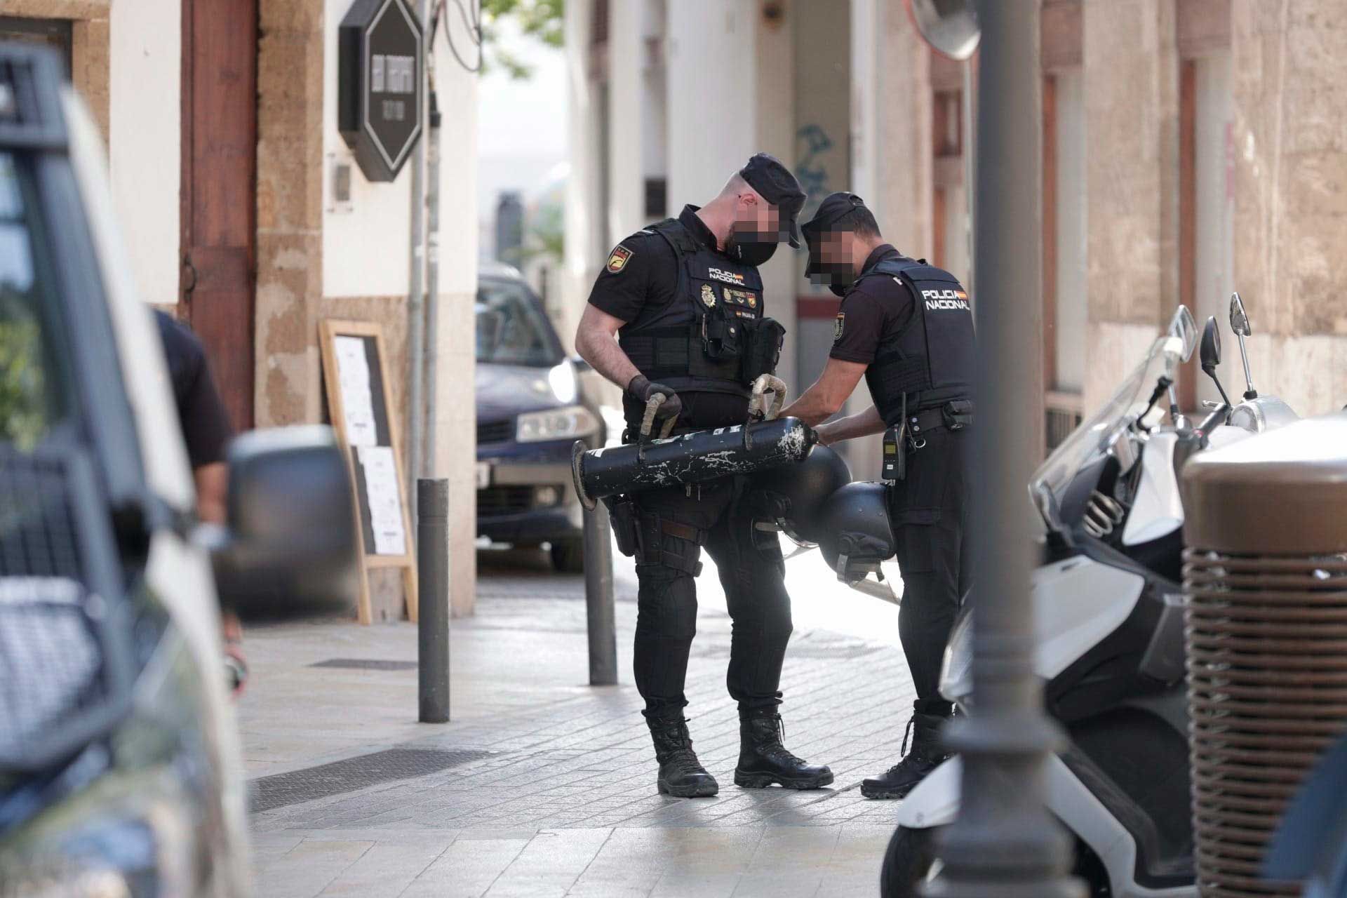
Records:
[[[797,417],[758,424],[718,427],[647,443],[585,450],[571,447],[571,475],[585,508],[620,493],[714,481],[799,462],[818,442],[814,428]]]

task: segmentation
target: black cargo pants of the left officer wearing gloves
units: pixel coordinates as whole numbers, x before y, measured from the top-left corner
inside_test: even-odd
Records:
[[[741,710],[780,704],[781,662],[791,638],[791,596],[775,532],[753,528],[746,479],[723,478],[633,495],[640,582],[636,688],[647,716],[682,714],[687,658],[696,633],[700,552],[715,561],[733,622],[730,696]]]

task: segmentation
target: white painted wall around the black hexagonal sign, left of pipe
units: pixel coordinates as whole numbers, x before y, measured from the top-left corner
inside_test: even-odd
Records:
[[[397,180],[372,183],[346,148],[337,129],[337,28],[350,0],[323,3],[323,296],[404,296],[409,289],[411,162],[397,172]],[[457,123],[449,116],[445,131],[450,141],[458,139],[453,136]],[[475,159],[475,137],[470,145]],[[335,159],[353,168],[350,211],[331,209]],[[475,198],[470,199],[475,209]],[[475,217],[471,221],[475,228]],[[475,233],[470,240],[475,253]]]

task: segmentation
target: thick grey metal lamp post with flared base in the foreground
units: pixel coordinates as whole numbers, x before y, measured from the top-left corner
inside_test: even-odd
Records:
[[[1044,808],[1060,732],[1033,673],[1030,543],[1021,525],[1041,372],[1039,0],[979,0],[975,304],[979,369],[974,701],[947,742],[963,755],[959,817],[938,836],[928,898],[1084,898],[1065,875],[1071,843]],[[1034,351],[1040,347],[1040,351]]]

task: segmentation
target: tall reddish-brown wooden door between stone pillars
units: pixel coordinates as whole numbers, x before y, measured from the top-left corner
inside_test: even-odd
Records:
[[[185,318],[238,429],[253,425],[257,0],[182,4]]]

